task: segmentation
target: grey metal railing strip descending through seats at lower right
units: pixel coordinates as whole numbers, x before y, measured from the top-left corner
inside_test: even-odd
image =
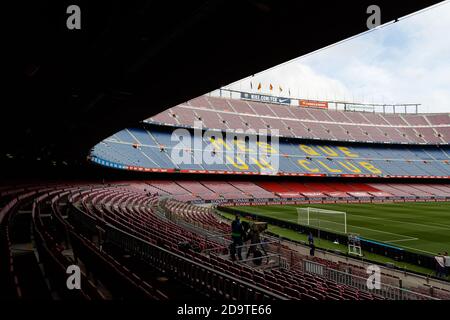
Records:
[[[429,295],[383,283],[378,283],[378,289],[370,289],[367,278],[332,269],[310,260],[303,260],[303,270],[305,273],[318,275],[336,283],[354,287],[389,300],[440,300]]]

